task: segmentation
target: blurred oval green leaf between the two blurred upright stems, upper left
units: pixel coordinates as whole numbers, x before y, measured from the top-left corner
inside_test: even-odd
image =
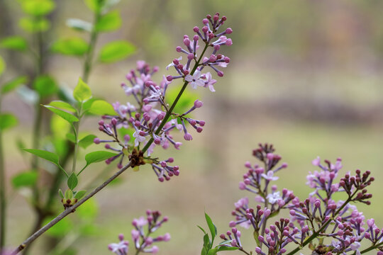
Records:
[[[88,51],[88,42],[82,38],[57,40],[51,50],[63,55],[82,56]]]

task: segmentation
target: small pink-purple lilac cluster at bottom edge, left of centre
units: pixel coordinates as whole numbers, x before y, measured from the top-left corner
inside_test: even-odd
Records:
[[[135,245],[135,254],[140,252],[156,254],[158,246],[152,245],[156,242],[167,242],[170,240],[170,234],[166,233],[158,237],[150,237],[150,234],[154,233],[158,228],[162,226],[162,223],[167,222],[167,217],[162,217],[158,211],[146,211],[146,217],[139,217],[134,219],[132,225],[134,229],[131,231],[132,240]],[[146,226],[146,231],[144,227]],[[124,240],[123,234],[118,235],[120,242],[109,244],[110,251],[117,255],[128,254],[129,242]]]

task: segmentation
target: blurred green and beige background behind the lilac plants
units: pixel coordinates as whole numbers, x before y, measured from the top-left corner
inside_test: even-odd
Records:
[[[65,26],[67,18],[92,19],[82,1],[56,4],[53,29],[47,35],[51,40],[74,35]],[[218,79],[215,93],[197,91],[204,107],[196,118],[206,120],[204,132],[193,134],[194,140],[183,142],[180,151],[157,149],[158,155],[174,157],[180,176],[159,183],[149,167],[127,171],[121,183],[97,194],[94,203],[99,213],[86,219],[96,225],[91,237],[69,231],[60,242],[62,247],[75,246],[79,254],[108,254],[107,244],[116,242],[120,232],[130,236],[133,217],[150,208],[170,217],[162,230],[170,232],[172,240],[160,244],[159,254],[199,254],[202,235],[196,225],[204,225],[204,210],[218,232],[226,232],[236,200],[248,196],[255,205],[252,194],[238,190],[238,182],[245,172],[244,162],[255,162],[251,152],[258,142],[274,144],[283,162],[288,162],[277,184],[294,190],[299,198],[311,192],[304,183],[307,172],[316,170],[311,160],[317,156],[332,161],[341,157],[345,171],[371,170],[376,179],[369,189],[374,194],[372,205],[361,208],[366,218],[374,217],[382,227],[383,1],[122,0],[117,8],[123,17],[121,30],[101,35],[99,42],[129,40],[138,52],[124,62],[94,69],[89,85],[96,95],[111,102],[130,100],[119,84],[137,60],[160,67],[157,81],[162,72],[173,74],[165,67],[179,57],[175,47],[182,43],[182,35],[191,35],[194,26],[201,26],[207,13],[218,11],[228,17],[233,45],[223,52],[231,57],[231,64],[224,70],[225,77]],[[0,1],[1,37],[22,33],[17,26],[20,16],[17,1]],[[28,72],[28,59],[5,51],[1,55],[9,65],[9,77]],[[82,66],[72,57],[54,55],[46,64],[60,84],[72,88],[81,75]],[[15,140],[31,140],[33,108],[17,95],[7,97],[3,108],[21,120],[6,137],[10,179],[26,167]],[[89,118],[82,130],[99,135],[97,121]],[[80,183],[86,186],[104,168],[102,163],[92,166]],[[42,179],[42,185],[47,180]],[[7,188],[11,200],[8,244],[15,246],[26,237],[33,214],[23,198],[28,191]],[[84,220],[70,217],[74,226],[76,220]],[[33,254],[40,254],[45,242],[39,239]],[[254,251],[250,232],[243,234],[243,242]]]

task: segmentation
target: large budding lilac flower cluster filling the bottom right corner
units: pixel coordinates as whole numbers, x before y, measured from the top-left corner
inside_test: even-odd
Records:
[[[350,204],[370,205],[372,195],[367,193],[367,186],[374,181],[370,171],[362,173],[356,170],[353,176],[348,172],[335,181],[342,169],[341,159],[337,159],[335,164],[328,160],[321,164],[318,157],[312,164],[318,166],[319,171],[310,172],[307,176],[307,185],[314,191],[309,198],[301,201],[285,188],[282,196],[276,186],[268,188],[270,182],[278,178],[274,174],[287,166],[282,164],[277,167],[281,157],[274,154],[272,145],[260,145],[253,155],[263,164],[252,166],[246,162],[248,172],[244,174],[239,188],[255,193],[255,201],[263,205],[250,208],[248,198],[241,198],[235,203],[232,212],[235,221],[229,223],[232,231],[221,234],[221,238],[228,241],[226,246],[238,247],[245,254],[250,254],[241,246],[241,234],[235,228],[240,225],[254,229],[257,254],[279,255],[289,251],[288,255],[292,255],[308,246],[313,254],[359,255],[375,249],[378,255],[383,255],[383,229],[374,224],[374,219],[365,220],[363,213]],[[344,193],[347,199],[334,200],[335,193]],[[281,218],[267,227],[267,220],[282,209],[289,210],[290,219]],[[362,249],[364,240],[370,242],[370,246]]]

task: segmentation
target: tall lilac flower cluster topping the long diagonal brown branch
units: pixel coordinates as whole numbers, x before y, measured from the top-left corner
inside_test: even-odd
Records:
[[[203,20],[204,27],[201,30],[194,27],[196,34],[192,40],[188,35],[184,35],[184,48],[177,47],[176,50],[187,55],[187,62],[182,64],[181,56],[167,66],[167,69],[174,67],[179,75],[167,77],[164,75],[160,83],[155,83],[152,76],[158,71],[158,67],[150,68],[143,61],[138,61],[137,69],[132,69],[126,75],[128,82],[121,84],[121,87],[127,96],[133,96],[134,103],[113,103],[117,115],[104,115],[99,121],[99,130],[110,138],[94,139],[96,144],[105,142],[106,149],[117,152],[116,156],[106,160],[107,164],[119,159],[118,167],[121,169],[123,159],[128,157],[133,168],[151,164],[159,181],[168,181],[170,177],[179,175],[179,167],[169,165],[174,161],[172,158],[159,160],[150,155],[156,145],[164,149],[172,145],[175,149],[179,149],[182,142],[174,140],[172,132],[175,130],[184,133],[184,140],[192,140],[187,124],[196,132],[202,132],[205,121],[196,120],[190,116],[196,108],[203,106],[201,101],[194,101],[194,104],[184,113],[174,113],[173,110],[189,84],[193,89],[202,86],[215,91],[213,85],[216,84],[216,80],[212,78],[210,72],[203,74],[202,71],[204,67],[210,67],[218,77],[223,77],[223,72],[218,67],[227,67],[230,62],[230,58],[218,53],[223,45],[232,45],[232,40],[226,37],[233,32],[231,28],[218,32],[225,21],[226,17],[220,18],[219,13],[214,16],[208,15]],[[202,50],[199,50],[200,44],[203,45]],[[209,47],[212,48],[212,52],[207,55],[206,50]],[[170,105],[167,102],[166,92],[168,86],[176,79],[183,79],[184,86]],[[121,131],[118,130],[121,129],[125,133],[123,139],[119,137]],[[111,143],[116,147],[112,147]]]

